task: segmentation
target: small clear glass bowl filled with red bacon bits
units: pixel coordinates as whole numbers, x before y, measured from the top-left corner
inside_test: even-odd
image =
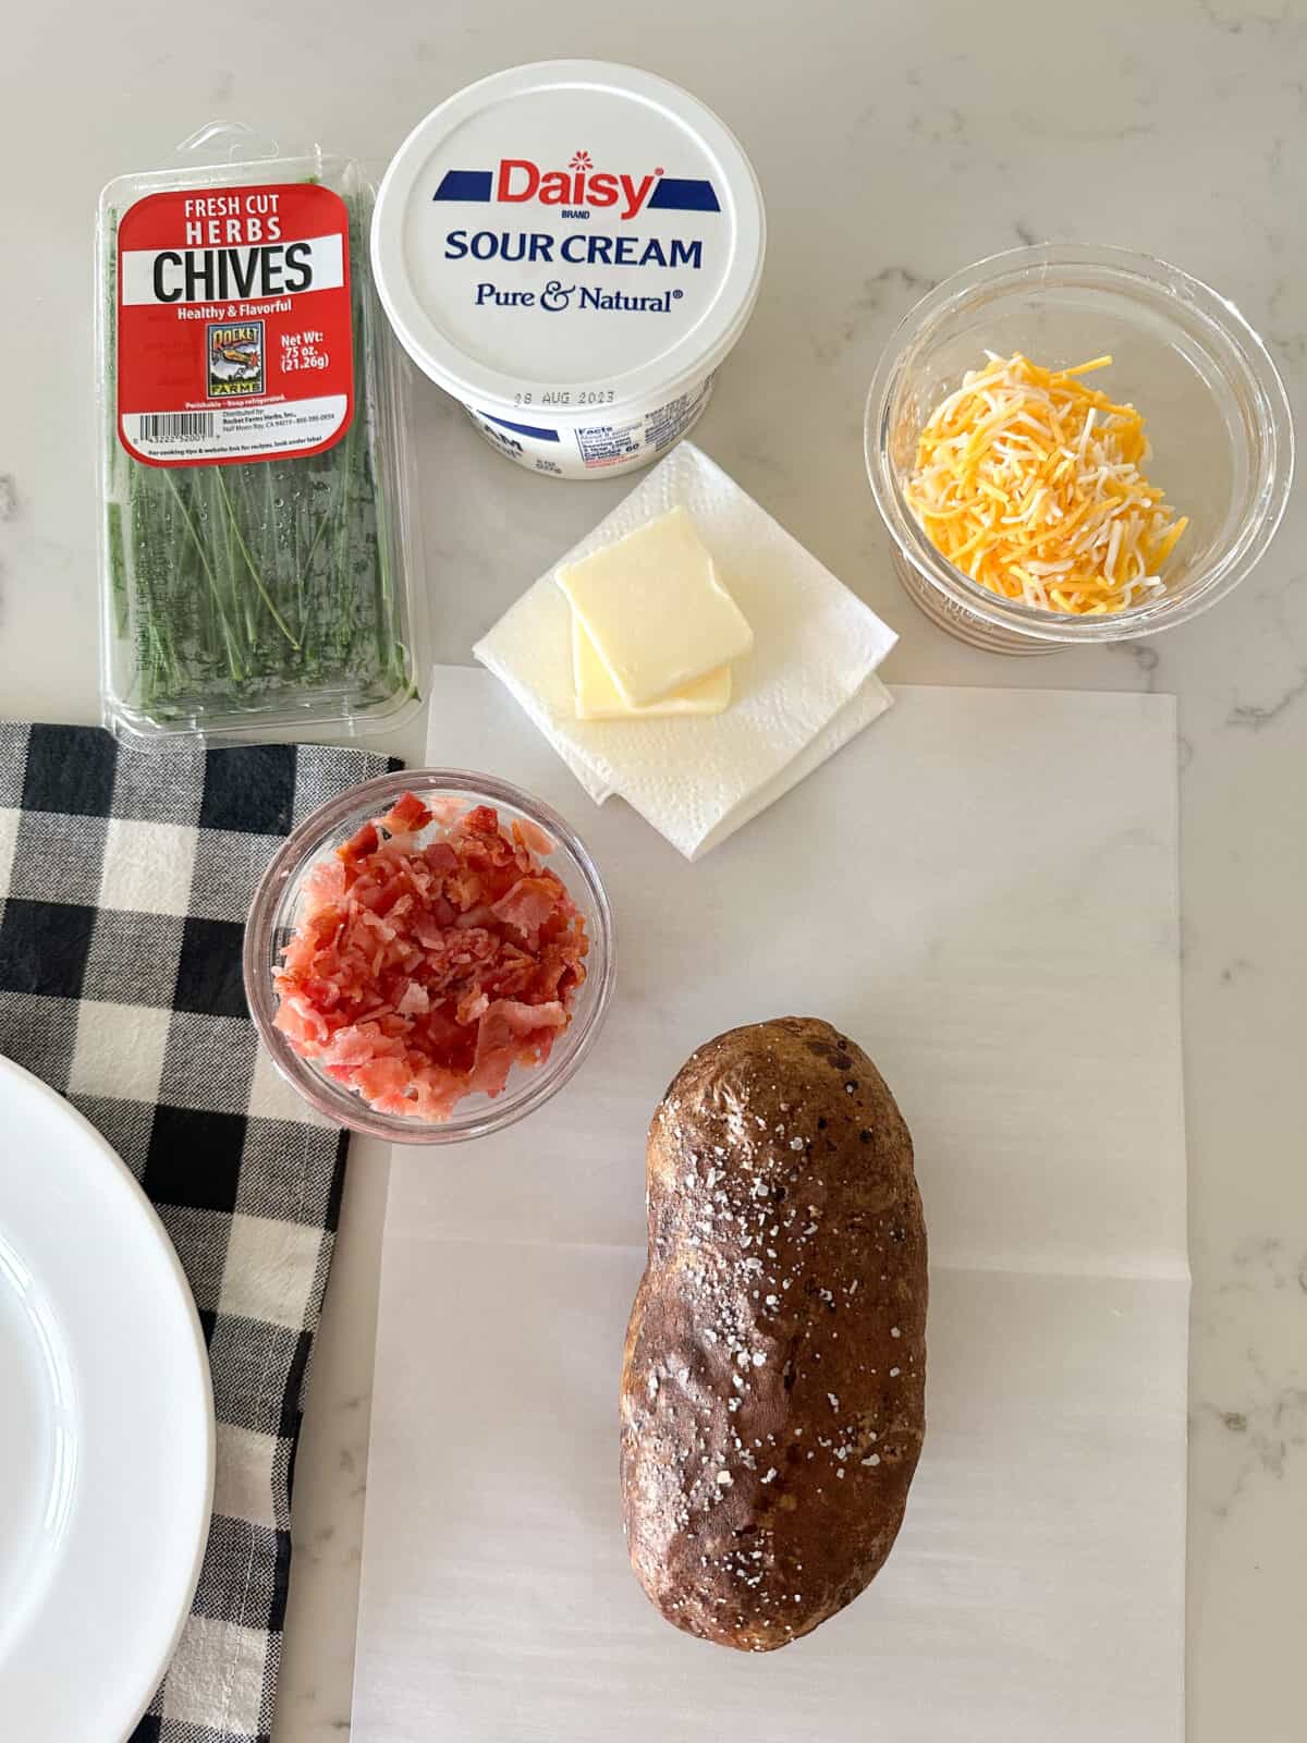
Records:
[[[263,1046],[340,1126],[457,1143],[572,1077],[612,992],[613,924],[568,824],[483,774],[416,769],[322,805],[254,894]]]

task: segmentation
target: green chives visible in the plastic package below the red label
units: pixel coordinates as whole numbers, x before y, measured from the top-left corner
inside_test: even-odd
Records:
[[[301,704],[352,715],[411,688],[383,537],[364,364],[371,291],[354,206],[349,237],[356,392],[340,441],[291,458],[160,467],[112,432],[112,629],[124,701],[148,722],[202,727]],[[113,333],[113,248],[108,258]]]

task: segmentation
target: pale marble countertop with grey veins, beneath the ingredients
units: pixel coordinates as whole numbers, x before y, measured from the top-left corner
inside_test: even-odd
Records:
[[[1073,23],[1086,16],[1091,33]],[[652,17],[596,0],[319,0],[310,12],[230,0],[218,14],[136,0],[91,9],[75,26],[64,9],[26,7],[5,35],[3,713],[98,718],[89,324],[99,185],[150,166],[214,117],[380,162],[467,80],[563,54],[662,71],[746,141],[769,204],[767,279],[695,439],[903,633],[887,676],[1180,697],[1194,1267],[1188,1734],[1298,1740],[1302,492],[1270,556],[1209,615],[1148,645],[1002,659],[950,641],[899,593],[863,472],[861,413],[880,347],[910,303],[967,261],[1035,239],[1175,260],[1239,303],[1300,394],[1307,9],[667,0]],[[420,383],[416,397],[436,654],[458,661],[626,486],[516,472],[434,387]],[[422,723],[392,748],[420,755]],[[298,1461],[275,1743],[349,1731],[385,1166],[380,1149],[356,1147]]]

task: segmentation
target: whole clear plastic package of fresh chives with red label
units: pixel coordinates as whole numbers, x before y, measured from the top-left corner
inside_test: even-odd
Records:
[[[99,200],[101,687],[119,732],[394,725],[420,600],[371,188],[216,124]]]

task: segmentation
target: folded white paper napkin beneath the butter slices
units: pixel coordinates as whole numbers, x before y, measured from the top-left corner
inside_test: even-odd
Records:
[[[753,626],[723,715],[577,720],[572,608],[556,568],[685,505]],[[596,804],[619,793],[697,859],[810,774],[891,702],[875,669],[897,636],[692,443],[680,443],[474,647]]]

